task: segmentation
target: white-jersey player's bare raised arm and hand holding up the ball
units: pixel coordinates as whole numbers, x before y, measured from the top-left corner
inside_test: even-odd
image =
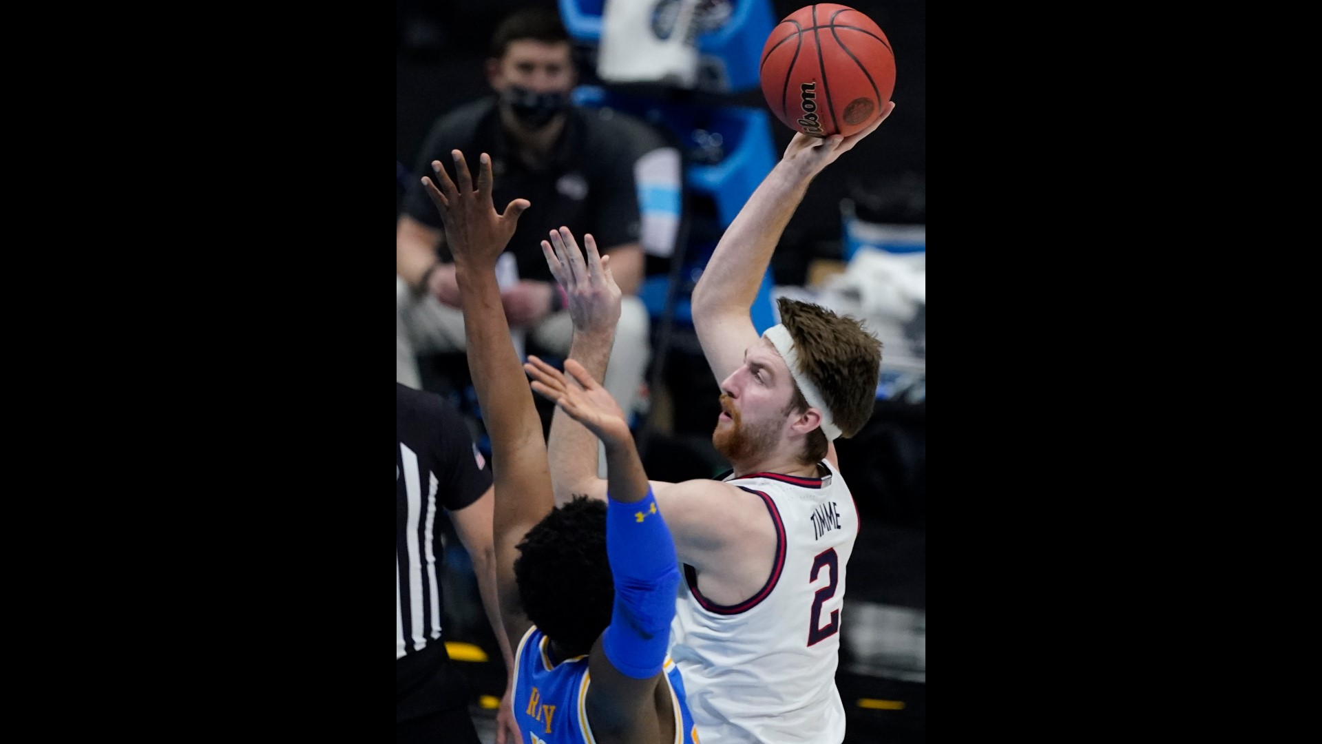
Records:
[[[738,369],[744,349],[758,340],[750,308],[780,234],[802,201],[809,181],[875,131],[894,109],[895,103],[887,102],[873,126],[850,136],[796,134],[780,163],[720,237],[693,290],[693,326],[717,381]]]

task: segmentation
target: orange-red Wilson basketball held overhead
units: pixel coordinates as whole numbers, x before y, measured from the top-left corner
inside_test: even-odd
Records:
[[[787,127],[810,136],[866,130],[895,90],[895,54],[882,29],[846,5],[785,16],[761,49],[761,94]]]

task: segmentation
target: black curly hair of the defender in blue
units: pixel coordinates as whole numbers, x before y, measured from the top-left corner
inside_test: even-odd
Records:
[[[605,502],[575,496],[524,535],[514,579],[524,613],[570,655],[592,650],[611,624]]]

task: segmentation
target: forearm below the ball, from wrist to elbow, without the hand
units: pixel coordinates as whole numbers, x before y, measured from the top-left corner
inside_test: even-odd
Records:
[[[720,311],[748,312],[780,234],[810,179],[779,163],[726,229],[693,290],[693,320]]]

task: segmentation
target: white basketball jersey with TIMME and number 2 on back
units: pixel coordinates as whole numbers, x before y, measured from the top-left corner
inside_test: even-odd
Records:
[[[836,690],[845,564],[858,508],[839,473],[825,478],[755,473],[726,482],[761,496],[776,526],[776,560],[747,601],[720,606],[683,567],[670,625],[702,744],[839,744]]]

